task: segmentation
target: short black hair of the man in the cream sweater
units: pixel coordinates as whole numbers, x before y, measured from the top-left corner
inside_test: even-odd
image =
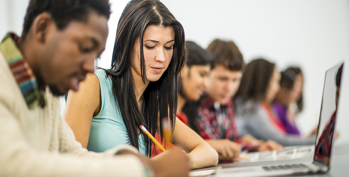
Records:
[[[47,12],[62,30],[72,20],[87,22],[89,13],[94,10],[109,19],[109,0],[30,0],[24,17],[22,38],[25,38],[34,19]]]

